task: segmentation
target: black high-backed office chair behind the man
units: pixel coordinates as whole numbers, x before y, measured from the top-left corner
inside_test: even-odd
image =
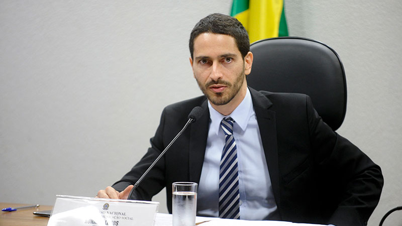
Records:
[[[250,45],[254,55],[247,83],[254,89],[308,94],[334,131],[346,114],[346,78],[341,59],[329,46],[306,38],[279,37]]]

